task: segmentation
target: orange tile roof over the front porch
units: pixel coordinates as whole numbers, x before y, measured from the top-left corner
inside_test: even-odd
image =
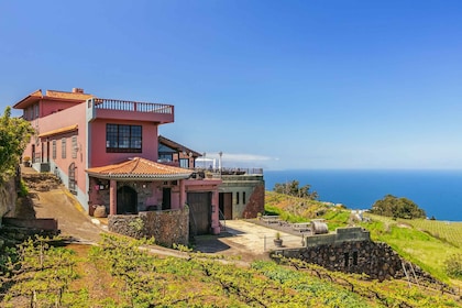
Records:
[[[89,168],[87,173],[98,178],[174,180],[188,178],[193,170],[134,157],[119,164]]]

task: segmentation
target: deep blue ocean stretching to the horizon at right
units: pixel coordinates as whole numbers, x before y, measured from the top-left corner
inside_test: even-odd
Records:
[[[350,209],[370,209],[389,194],[413,200],[427,217],[462,221],[462,170],[265,170],[264,179],[266,190],[296,179],[319,200]]]

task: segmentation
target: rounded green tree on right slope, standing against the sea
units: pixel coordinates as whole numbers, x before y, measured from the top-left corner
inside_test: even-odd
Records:
[[[375,201],[371,209],[372,213],[393,218],[426,218],[425,210],[407,198],[397,198],[386,195],[382,200]]]

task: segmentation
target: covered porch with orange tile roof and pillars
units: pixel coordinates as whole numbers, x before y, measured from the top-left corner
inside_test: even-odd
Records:
[[[134,157],[87,169],[89,215],[105,206],[109,215],[180,209],[186,204],[185,179],[191,172]]]

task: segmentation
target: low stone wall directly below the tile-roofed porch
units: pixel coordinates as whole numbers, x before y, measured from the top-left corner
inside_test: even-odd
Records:
[[[134,239],[152,238],[161,245],[187,245],[189,241],[189,209],[142,211],[139,215],[109,216],[111,232]]]

